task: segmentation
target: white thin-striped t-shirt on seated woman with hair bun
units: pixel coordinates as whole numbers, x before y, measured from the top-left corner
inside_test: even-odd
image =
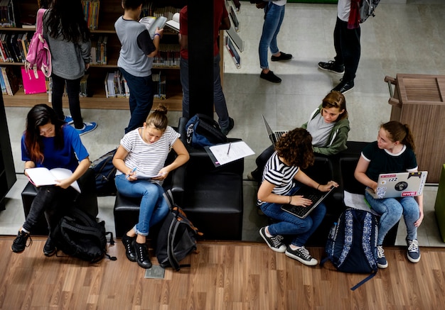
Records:
[[[167,126],[159,140],[155,143],[146,143],[139,134],[139,128],[130,131],[121,139],[122,148],[128,152],[124,160],[125,165],[130,169],[136,168],[136,177],[138,171],[144,175],[157,175],[166,162],[171,146],[180,136],[173,128]],[[122,175],[122,172],[117,170],[116,175]],[[162,181],[151,180],[151,182],[162,184]]]

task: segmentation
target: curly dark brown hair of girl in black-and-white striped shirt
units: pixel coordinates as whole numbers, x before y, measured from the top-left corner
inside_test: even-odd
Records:
[[[288,131],[275,145],[277,155],[283,157],[291,166],[306,169],[313,165],[312,136],[303,128]]]

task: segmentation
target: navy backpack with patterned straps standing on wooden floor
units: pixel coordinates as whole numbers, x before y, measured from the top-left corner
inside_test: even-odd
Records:
[[[338,271],[370,273],[368,277],[352,287],[354,291],[377,273],[377,217],[358,209],[346,209],[329,232],[325,252],[327,260]]]

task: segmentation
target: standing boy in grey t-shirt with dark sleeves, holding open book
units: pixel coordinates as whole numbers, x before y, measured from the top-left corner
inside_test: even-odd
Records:
[[[117,67],[130,89],[131,117],[125,133],[141,127],[153,106],[151,68],[163,35],[163,29],[156,28],[154,38],[151,39],[146,26],[139,23],[143,3],[143,0],[123,0],[124,15],[114,23],[117,37],[122,44]]]

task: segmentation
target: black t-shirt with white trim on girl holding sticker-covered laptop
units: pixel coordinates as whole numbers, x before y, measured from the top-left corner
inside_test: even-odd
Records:
[[[377,146],[377,141],[375,141],[363,148],[362,157],[369,162],[366,175],[375,182],[377,182],[381,173],[412,172],[417,170],[416,155],[406,145],[404,145],[400,153],[392,154],[387,150],[380,149]]]

